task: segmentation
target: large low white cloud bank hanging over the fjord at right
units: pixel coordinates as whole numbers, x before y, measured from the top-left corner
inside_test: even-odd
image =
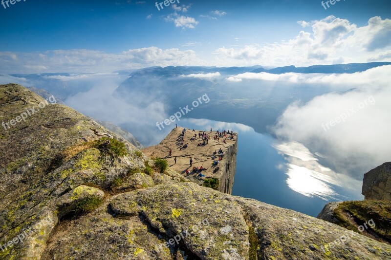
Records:
[[[311,88],[328,85],[335,92],[305,104],[291,104],[274,128],[280,139],[299,142],[312,153],[322,154],[324,158],[319,160],[326,162],[326,167],[357,181],[362,181],[368,170],[391,160],[391,66],[355,74],[297,78],[297,84]],[[348,113],[345,122],[331,126],[331,120]]]

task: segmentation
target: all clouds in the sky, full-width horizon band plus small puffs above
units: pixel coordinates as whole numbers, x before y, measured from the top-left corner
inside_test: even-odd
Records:
[[[185,13],[189,6],[173,6],[165,17],[179,28],[194,28],[199,22]],[[177,11],[176,11],[177,9]],[[180,10],[179,10],[180,9]],[[213,11],[224,16],[223,11]],[[152,18],[152,16],[150,17]],[[299,21],[304,30],[296,37],[271,44],[219,47],[197,54],[187,49],[195,44],[161,49],[156,46],[130,49],[113,54],[97,50],[48,50],[44,52],[0,52],[0,71],[10,73],[111,72],[150,66],[309,66],[391,58],[391,20],[373,17],[362,27],[333,16],[321,20]],[[199,44],[197,44],[199,45]]]

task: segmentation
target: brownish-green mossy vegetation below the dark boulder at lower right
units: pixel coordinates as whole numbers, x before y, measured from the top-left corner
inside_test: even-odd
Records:
[[[388,201],[348,201],[338,204],[334,209],[334,217],[341,223],[339,225],[359,232],[357,227],[348,222],[344,213],[353,215],[359,222],[367,223],[373,220],[375,226],[372,228],[380,237],[391,240],[391,202]]]

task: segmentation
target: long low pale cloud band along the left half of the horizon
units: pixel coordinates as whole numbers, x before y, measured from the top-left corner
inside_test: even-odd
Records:
[[[42,53],[0,52],[0,71],[13,73],[111,72],[150,66],[203,65],[192,50],[148,47],[119,54],[91,50],[54,50]]]

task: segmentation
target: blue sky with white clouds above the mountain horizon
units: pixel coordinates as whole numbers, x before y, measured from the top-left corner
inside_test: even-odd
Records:
[[[391,59],[389,0],[173,2],[160,10],[156,1],[4,2],[0,73]]]

